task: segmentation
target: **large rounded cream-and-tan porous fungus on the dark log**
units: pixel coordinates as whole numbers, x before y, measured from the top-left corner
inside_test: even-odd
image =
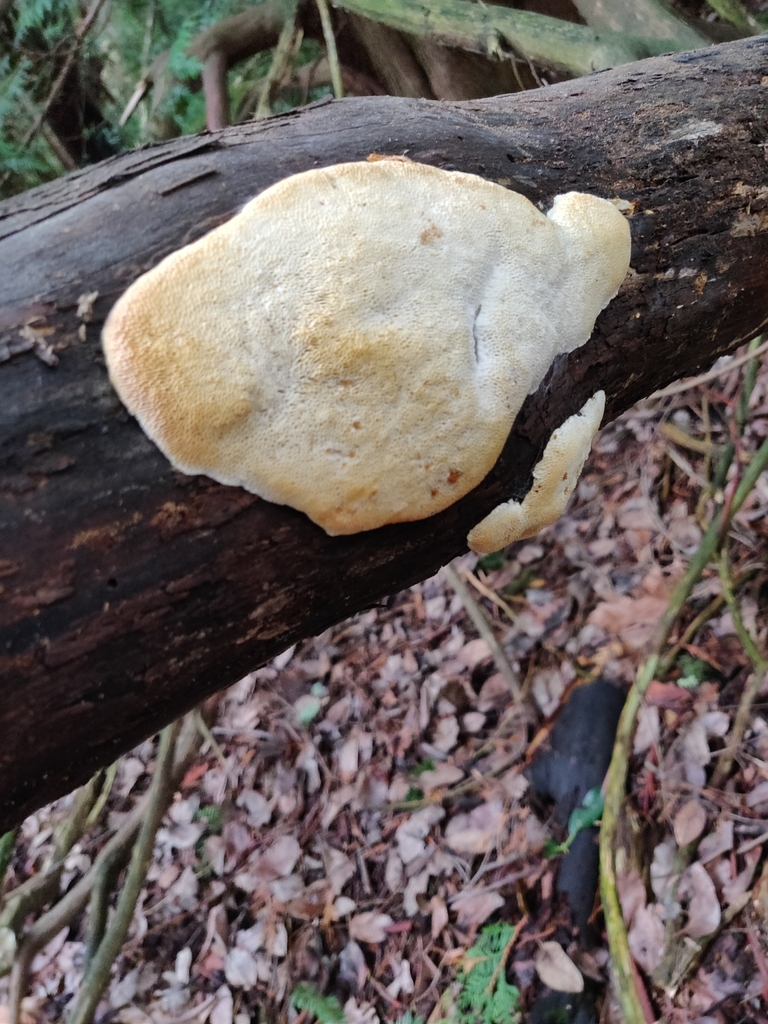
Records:
[[[139,278],[103,346],[177,469],[353,534],[476,486],[629,258],[605,200],[570,193],[545,216],[472,174],[339,164],[272,185]]]

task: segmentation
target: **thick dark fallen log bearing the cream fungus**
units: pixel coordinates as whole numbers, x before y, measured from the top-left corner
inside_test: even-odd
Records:
[[[0,364],[0,829],[465,550],[597,388],[613,417],[758,333],[767,81],[759,38],[514,97],[329,102],[127,154],[0,206],[0,353],[16,353]],[[422,522],[332,539],[175,472],[110,387],[99,332],[137,274],[260,189],[372,152],[480,174],[544,207],[571,188],[620,196],[634,204],[633,270],[475,492]]]

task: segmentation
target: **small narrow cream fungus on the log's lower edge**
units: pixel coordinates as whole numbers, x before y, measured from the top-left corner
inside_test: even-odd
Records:
[[[467,544],[481,555],[534,537],[565,511],[605,412],[605,392],[596,391],[554,431],[534,468],[534,484],[522,502],[504,502],[469,531]]]

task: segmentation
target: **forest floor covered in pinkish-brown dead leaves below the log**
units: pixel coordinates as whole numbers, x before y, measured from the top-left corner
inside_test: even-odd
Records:
[[[298,644],[221,695],[157,834],[97,1020],[622,1019],[588,878],[597,830],[571,861],[587,887],[573,897],[588,901],[577,927],[558,884],[562,856],[548,856],[570,808],[548,802],[536,758],[556,745],[551,726],[572,693],[598,679],[627,691],[706,530],[718,453],[734,440],[738,472],[768,435],[768,372],[738,433],[742,369],[729,365],[608,425],[566,515],[534,540],[458,559],[454,574]],[[732,768],[716,774],[757,671],[739,628],[765,651],[766,508],[764,473],[730,534],[735,604],[710,565],[631,753],[618,890],[648,1019],[669,1024],[768,1021],[765,691]],[[607,703],[617,714],[621,699]],[[578,788],[569,773],[585,748],[593,774],[605,770],[615,714],[605,726],[601,705],[589,707],[586,726],[572,727],[587,743],[548,776],[565,765],[562,792]],[[156,752],[147,740],[119,762],[103,811],[67,857],[62,892],[146,791]],[[71,805],[24,823],[7,890],[43,869]],[[38,953],[24,1024],[66,1015],[86,927],[81,913]],[[562,989],[570,994],[552,994]]]

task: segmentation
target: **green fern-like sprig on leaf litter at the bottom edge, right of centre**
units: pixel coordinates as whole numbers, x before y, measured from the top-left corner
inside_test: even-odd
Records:
[[[458,981],[460,1024],[512,1024],[520,990],[507,981],[507,955],[515,929],[506,922],[488,925],[467,950]]]

